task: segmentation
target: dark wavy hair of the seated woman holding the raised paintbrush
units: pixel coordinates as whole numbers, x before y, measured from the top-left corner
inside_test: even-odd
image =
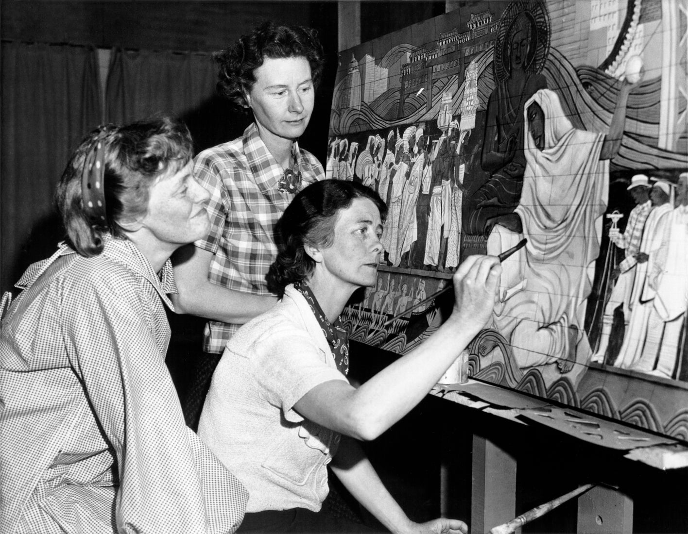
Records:
[[[310,276],[315,261],[306,254],[304,246],[332,245],[339,211],[359,198],[372,200],[385,221],[387,205],[374,190],[355,181],[316,181],[294,197],[275,227],[279,254],[266,277],[270,291],[281,298],[287,285]]]

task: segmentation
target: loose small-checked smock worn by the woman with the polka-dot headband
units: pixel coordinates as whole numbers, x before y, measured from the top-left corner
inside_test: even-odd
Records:
[[[189,428],[165,293],[130,241],[32,265],[0,328],[0,533],[227,533],[243,486]],[[163,304],[164,302],[164,304]]]

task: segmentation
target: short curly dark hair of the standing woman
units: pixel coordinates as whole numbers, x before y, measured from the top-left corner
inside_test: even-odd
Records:
[[[313,86],[318,87],[322,78],[325,56],[316,30],[303,26],[276,26],[267,21],[255,27],[239,41],[215,52],[213,59],[219,65],[217,92],[246,109],[246,98],[255,84],[255,69],[263,65],[265,58],[293,58],[303,56],[310,64]]]

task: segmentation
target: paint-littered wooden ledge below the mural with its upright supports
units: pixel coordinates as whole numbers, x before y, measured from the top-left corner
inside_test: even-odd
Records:
[[[565,432],[568,425],[574,427],[568,432],[571,436],[582,436],[589,443],[599,440],[602,442],[599,446],[621,449],[625,452],[625,458],[638,460],[657,469],[688,466],[688,447],[680,441],[627,427],[588,412],[576,412],[574,408],[553,405],[546,399],[530,397],[490,383],[469,379],[464,384],[438,384],[431,394],[519,425],[545,423]],[[562,424],[563,421],[573,423]],[[594,432],[590,432],[590,429],[594,429]],[[577,435],[579,430],[581,432]],[[614,436],[621,436],[623,441],[612,443]],[[471,533],[487,533],[493,527],[524,512],[515,509],[516,468],[517,459],[506,447],[486,436],[473,434]],[[578,498],[577,533],[632,534],[632,498],[614,487],[604,485],[613,484],[614,481],[594,482],[603,484],[593,487]],[[447,467],[444,463],[440,469],[440,486],[440,512],[446,515],[449,491]]]

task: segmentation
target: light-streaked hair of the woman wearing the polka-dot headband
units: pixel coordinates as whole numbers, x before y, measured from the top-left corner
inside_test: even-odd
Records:
[[[84,210],[81,175],[96,139],[105,144],[105,221],[94,223]],[[89,133],[72,154],[58,183],[55,201],[67,241],[81,256],[103,252],[103,232],[124,237],[121,223],[148,210],[149,188],[158,177],[177,173],[193,156],[184,122],[165,115],[126,126],[107,124]]]

